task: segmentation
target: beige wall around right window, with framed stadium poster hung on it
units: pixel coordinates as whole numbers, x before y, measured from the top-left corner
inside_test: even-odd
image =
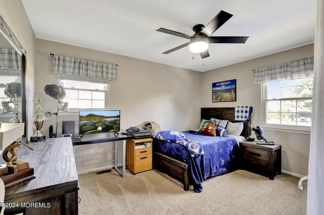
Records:
[[[252,105],[252,124],[261,125],[261,85],[254,84],[253,69],[314,56],[314,45],[304,45],[272,55],[202,73],[201,105],[203,107],[228,107]],[[212,102],[212,83],[236,79],[236,102]],[[266,129],[265,129],[266,130]],[[307,175],[310,135],[265,131],[266,137],[282,146],[282,170]]]

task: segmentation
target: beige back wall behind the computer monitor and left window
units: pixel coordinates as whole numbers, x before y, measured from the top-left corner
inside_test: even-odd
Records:
[[[127,128],[155,121],[162,129],[188,130],[199,125],[201,73],[112,53],[37,39],[35,92],[42,98],[44,111],[55,111],[57,100],[44,93],[46,84],[57,84],[52,72],[52,56],[46,52],[118,65],[117,80],[109,84],[109,109],[121,111],[121,125]],[[76,120],[77,116],[60,116]],[[48,136],[46,121],[42,133]]]

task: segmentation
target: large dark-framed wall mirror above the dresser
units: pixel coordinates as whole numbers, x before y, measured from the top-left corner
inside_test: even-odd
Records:
[[[21,44],[0,16],[0,122],[25,123],[26,137],[28,123],[23,53],[25,50],[21,49]]]

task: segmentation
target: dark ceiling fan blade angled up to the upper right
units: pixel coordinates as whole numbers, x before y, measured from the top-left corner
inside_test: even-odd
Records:
[[[212,21],[210,21],[203,30],[201,30],[198,35],[209,37],[214,33],[219,27],[221,27],[227,20],[229,20],[233,15],[220,11]]]

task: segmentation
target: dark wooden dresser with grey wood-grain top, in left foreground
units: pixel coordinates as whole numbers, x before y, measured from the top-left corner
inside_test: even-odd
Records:
[[[18,158],[34,168],[35,179],[6,189],[5,214],[77,214],[78,178],[70,137],[29,142],[17,148]],[[0,164],[5,164],[1,159]],[[19,206],[16,206],[19,205]]]

